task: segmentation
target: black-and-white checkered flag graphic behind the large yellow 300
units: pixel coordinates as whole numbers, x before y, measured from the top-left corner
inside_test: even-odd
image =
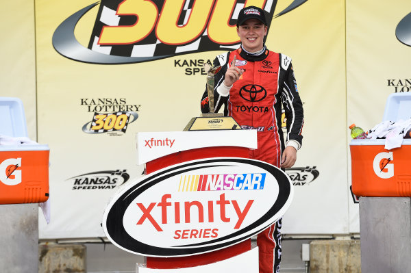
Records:
[[[158,10],[162,10],[164,1],[170,0],[152,0],[151,2],[157,5]],[[116,10],[121,2],[123,2],[123,0],[101,0],[95,26],[92,30],[90,42],[88,44],[88,49],[108,55],[125,57],[157,57],[166,55],[182,55],[203,51],[237,49],[239,46],[239,43],[223,45],[213,42],[208,37],[207,30],[204,31],[203,35],[199,38],[189,42],[188,44],[164,44],[155,36],[155,29],[153,29],[146,38],[134,44],[99,45],[99,36],[104,26],[129,26],[136,23],[136,16],[116,15]],[[244,7],[245,2],[246,0],[236,1],[232,12],[232,18],[229,20],[229,25],[236,25],[238,12],[240,12],[240,10]],[[186,0],[184,2],[184,8],[179,16],[177,25],[180,27],[186,25],[194,3],[195,0]],[[268,27],[270,27],[271,18],[273,18],[276,4],[277,0],[267,0],[263,7],[263,9],[269,14],[269,17],[267,18],[267,23],[269,24]]]

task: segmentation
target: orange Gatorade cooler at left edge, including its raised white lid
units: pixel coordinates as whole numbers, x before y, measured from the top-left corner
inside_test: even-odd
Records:
[[[0,98],[0,135],[27,137],[23,103]],[[49,198],[49,146],[0,145],[0,204],[42,203]]]

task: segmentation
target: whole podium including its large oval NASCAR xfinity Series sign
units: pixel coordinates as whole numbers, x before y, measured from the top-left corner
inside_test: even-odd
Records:
[[[250,238],[293,196],[282,170],[249,159],[257,131],[138,133],[137,144],[147,175],[123,185],[103,216],[114,245],[147,257],[137,272],[257,273]]]

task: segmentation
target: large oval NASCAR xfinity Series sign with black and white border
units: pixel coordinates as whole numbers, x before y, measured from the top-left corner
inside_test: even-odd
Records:
[[[127,184],[106,207],[103,229],[119,248],[151,257],[242,242],[283,216],[293,196],[279,168],[232,157],[187,161]]]

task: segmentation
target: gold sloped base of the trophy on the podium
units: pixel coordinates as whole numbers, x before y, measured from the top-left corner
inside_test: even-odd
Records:
[[[206,131],[206,130],[238,130],[240,125],[232,116],[224,116],[221,113],[201,114],[188,122],[183,131]]]

